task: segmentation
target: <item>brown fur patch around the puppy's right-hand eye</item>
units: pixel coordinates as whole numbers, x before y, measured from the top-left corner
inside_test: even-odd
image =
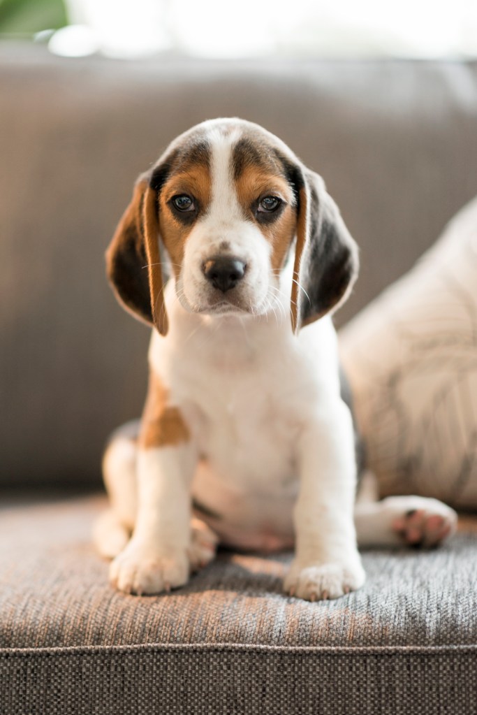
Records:
[[[260,225],[266,240],[271,243],[271,267],[278,273],[283,266],[288,248],[293,241],[296,227],[296,210],[293,206],[293,192],[286,179],[276,174],[263,171],[253,164],[244,167],[236,180],[237,196],[246,216],[256,209],[258,199],[265,196],[278,196],[286,202],[276,220]]]

